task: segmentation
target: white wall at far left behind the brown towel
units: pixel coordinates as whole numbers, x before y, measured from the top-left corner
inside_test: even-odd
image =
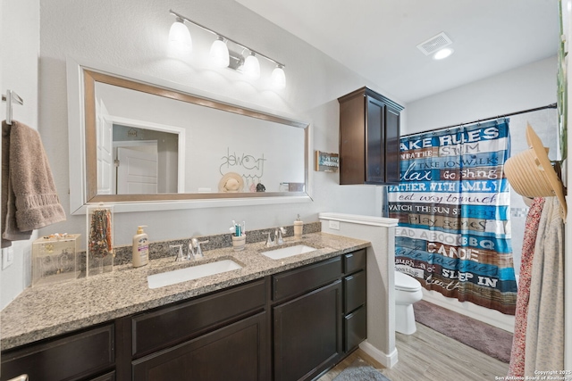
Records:
[[[24,101],[13,106],[13,119],[38,128],[39,0],[3,1],[0,15],[0,91],[15,91]],[[5,116],[4,109],[0,115]],[[36,235],[37,236],[37,235]],[[13,265],[2,270],[0,308],[13,301],[31,282],[31,242],[13,244]]]

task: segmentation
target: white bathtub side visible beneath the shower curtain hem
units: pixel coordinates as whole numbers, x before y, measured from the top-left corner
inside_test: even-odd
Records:
[[[471,302],[458,302],[456,299],[446,298],[436,291],[423,289],[423,300],[431,302],[450,311],[455,311],[469,318],[477,319],[493,327],[514,333],[515,317],[505,315],[499,311],[490,310]]]

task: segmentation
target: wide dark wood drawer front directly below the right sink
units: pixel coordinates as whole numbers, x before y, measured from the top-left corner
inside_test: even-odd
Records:
[[[307,293],[339,279],[340,276],[340,257],[274,275],[273,301]]]

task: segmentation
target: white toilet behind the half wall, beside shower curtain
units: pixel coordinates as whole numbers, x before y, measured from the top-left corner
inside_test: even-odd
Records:
[[[423,298],[421,284],[415,277],[395,271],[395,330],[405,335],[416,331],[413,303]]]

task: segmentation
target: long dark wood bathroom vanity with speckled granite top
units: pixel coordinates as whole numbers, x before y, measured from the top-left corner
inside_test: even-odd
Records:
[[[1,379],[312,379],[366,338],[369,243],[315,233],[304,244],[317,250],[208,251],[201,261],[242,268],[156,289],[149,274],[194,263],[30,288],[2,311]]]

